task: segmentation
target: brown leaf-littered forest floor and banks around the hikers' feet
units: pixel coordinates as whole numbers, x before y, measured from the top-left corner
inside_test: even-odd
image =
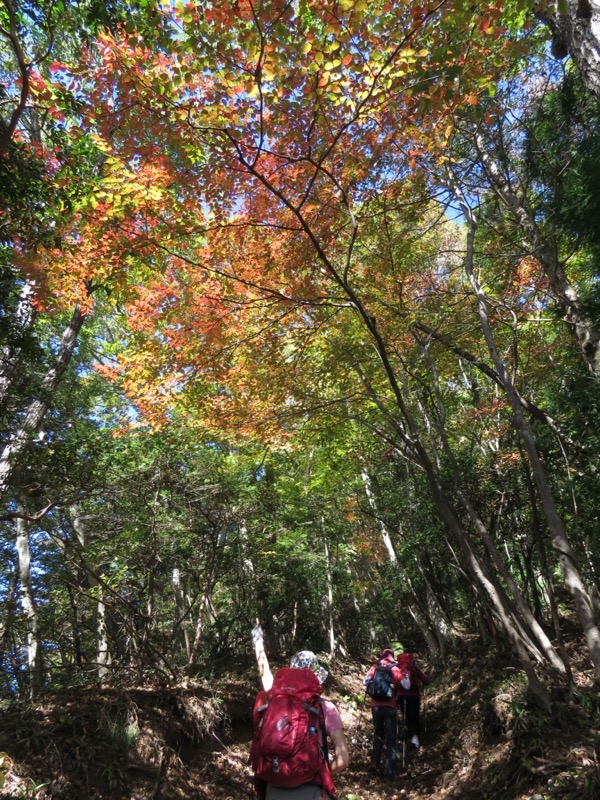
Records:
[[[580,648],[576,691],[551,716],[528,706],[519,673],[465,642],[433,670],[422,747],[393,782],[369,771],[365,665],[336,663],[326,696],[347,730],[340,800],[600,798],[600,698]],[[426,664],[422,664],[425,669]],[[0,705],[0,798],[239,800],[253,797],[248,749],[256,671],[171,687],[74,688]],[[402,743],[399,743],[402,763]]]

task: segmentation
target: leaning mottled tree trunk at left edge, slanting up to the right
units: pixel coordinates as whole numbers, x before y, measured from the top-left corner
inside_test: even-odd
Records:
[[[71,321],[66,327],[54,364],[46,372],[40,387],[40,396],[33,400],[25,411],[25,418],[16,431],[9,435],[0,454],[0,499],[8,489],[9,481],[17,459],[25,449],[33,434],[39,429],[54,397],[54,393],[71,360],[77,344],[77,334],[85,320],[85,314],[76,306]]]

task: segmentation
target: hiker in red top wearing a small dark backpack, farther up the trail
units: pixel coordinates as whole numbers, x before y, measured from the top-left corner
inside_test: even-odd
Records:
[[[385,776],[393,778],[398,760],[397,694],[402,675],[396,664],[394,651],[385,648],[379,659],[371,665],[363,678],[363,686],[370,698],[373,714],[373,750],[371,767],[379,768],[386,747]]]

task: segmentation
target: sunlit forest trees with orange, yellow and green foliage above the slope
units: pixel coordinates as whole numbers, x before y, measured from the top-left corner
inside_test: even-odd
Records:
[[[575,5],[3,0],[3,694],[210,670],[256,618],[477,632],[548,710],[568,614],[600,680]]]

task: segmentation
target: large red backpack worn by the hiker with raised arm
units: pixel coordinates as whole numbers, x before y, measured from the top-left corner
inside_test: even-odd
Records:
[[[250,764],[255,778],[292,788],[316,783],[335,797],[327,760],[321,684],[310,669],[283,667],[254,706]]]

